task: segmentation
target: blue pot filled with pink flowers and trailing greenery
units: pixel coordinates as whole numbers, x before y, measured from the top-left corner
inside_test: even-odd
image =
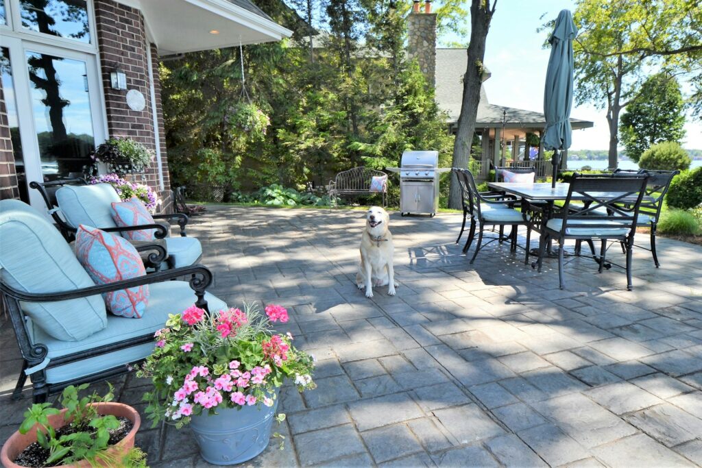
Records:
[[[200,455],[213,464],[251,460],[268,445],[277,396],[287,378],[298,391],[316,387],[312,356],[293,346],[290,333],[272,333],[286,309],[255,305],[208,314],[190,307],[170,315],[156,349],[138,371],[151,377],[146,412],[180,429],[190,422]],[[274,434],[279,436],[279,434]]]

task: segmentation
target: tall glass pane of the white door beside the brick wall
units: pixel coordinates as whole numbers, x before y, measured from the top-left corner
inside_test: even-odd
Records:
[[[95,148],[86,62],[32,51],[26,58],[41,175],[77,177]]]

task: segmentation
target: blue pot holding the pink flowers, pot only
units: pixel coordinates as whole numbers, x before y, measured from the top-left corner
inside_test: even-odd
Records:
[[[190,427],[201,457],[211,464],[239,464],[263,452],[278,407],[278,399],[274,401],[270,407],[260,404],[221,408],[216,415],[193,416]]]

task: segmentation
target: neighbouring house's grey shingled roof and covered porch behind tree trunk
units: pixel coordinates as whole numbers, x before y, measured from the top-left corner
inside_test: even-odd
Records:
[[[449,114],[447,119],[449,131],[454,133],[458,126],[458,116],[461,114],[463,75],[468,62],[468,53],[465,48],[437,48],[436,60],[436,100],[439,107]],[[483,81],[490,76],[491,73],[486,71]],[[541,112],[490,104],[485,89],[481,86],[480,103],[475,121],[475,131],[480,136],[483,149],[480,175],[487,175],[490,163],[494,166],[532,163],[529,159],[527,134],[534,133],[541,140],[541,133],[545,126],[546,121]],[[571,126],[573,130],[590,128],[592,122],[571,119]],[[505,157],[507,147],[511,149],[511,156],[508,159]],[[542,145],[538,146],[538,156],[534,160],[537,161],[536,166],[542,170],[550,163],[550,160],[545,160]],[[538,161],[543,162],[538,163]],[[567,152],[564,152],[562,165],[566,163]]]

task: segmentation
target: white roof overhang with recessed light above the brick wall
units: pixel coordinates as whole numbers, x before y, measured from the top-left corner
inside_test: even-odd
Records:
[[[159,55],[260,44],[292,34],[269,18],[227,0],[117,1],[143,13]]]

